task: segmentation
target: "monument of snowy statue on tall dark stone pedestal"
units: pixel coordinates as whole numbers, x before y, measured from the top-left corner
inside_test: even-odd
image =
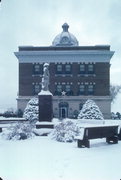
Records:
[[[53,118],[52,94],[49,91],[49,64],[44,64],[42,90],[39,98],[39,122],[51,122]]]

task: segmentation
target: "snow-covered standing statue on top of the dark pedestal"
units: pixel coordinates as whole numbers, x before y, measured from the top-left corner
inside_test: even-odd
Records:
[[[49,70],[48,70],[49,64],[44,64],[44,73],[42,77],[42,90],[48,91],[48,85],[49,85]]]

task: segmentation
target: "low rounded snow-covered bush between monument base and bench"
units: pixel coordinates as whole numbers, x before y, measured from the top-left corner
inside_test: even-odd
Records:
[[[71,120],[63,120],[55,125],[50,136],[60,142],[73,142],[74,137],[80,134],[80,128]]]

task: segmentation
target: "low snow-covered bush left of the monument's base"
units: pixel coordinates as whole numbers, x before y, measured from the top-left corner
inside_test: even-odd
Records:
[[[24,140],[34,136],[32,132],[33,126],[30,122],[18,122],[8,127],[2,136],[7,140]]]

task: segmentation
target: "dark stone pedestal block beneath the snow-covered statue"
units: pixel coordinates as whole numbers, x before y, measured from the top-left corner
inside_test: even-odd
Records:
[[[52,95],[39,93],[39,121],[51,122],[53,118]]]

